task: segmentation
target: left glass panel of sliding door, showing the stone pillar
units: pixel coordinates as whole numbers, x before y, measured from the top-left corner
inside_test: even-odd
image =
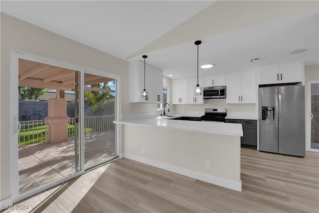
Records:
[[[80,72],[18,59],[19,195],[81,171]]]

